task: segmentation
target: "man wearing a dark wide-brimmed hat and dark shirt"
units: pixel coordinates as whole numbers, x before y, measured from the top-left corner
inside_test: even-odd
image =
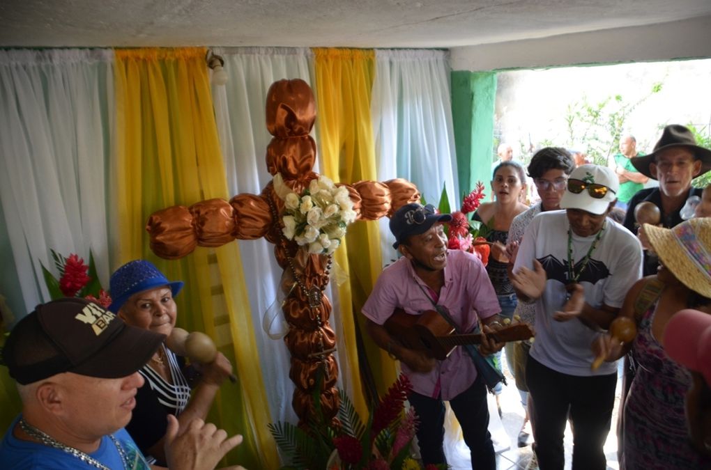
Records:
[[[624,226],[633,234],[639,226],[634,210],[641,202],[652,202],[661,212],[661,226],[670,229],[682,222],[679,212],[691,196],[701,196],[702,189],[691,187],[691,180],[711,170],[711,150],[696,145],[693,133],[685,126],[670,124],[649,155],[631,158],[639,173],[659,181],[659,187],[640,190],[629,201]],[[658,258],[648,251],[644,234],[640,241],[645,249],[644,275],[657,273]]]

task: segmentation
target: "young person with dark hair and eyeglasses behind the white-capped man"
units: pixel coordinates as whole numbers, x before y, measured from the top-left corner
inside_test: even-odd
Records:
[[[513,255],[515,247],[523,237],[523,231],[528,226],[533,217],[541,212],[560,209],[560,199],[565,192],[568,175],[575,168],[572,155],[565,148],[560,147],[545,147],[541,148],[533,155],[528,165],[528,176],[533,179],[533,184],[538,190],[540,202],[535,204],[530,209],[522,214],[519,214],[511,222],[508,230],[508,246],[509,255]],[[513,266],[513,259],[510,266]],[[518,315],[521,321],[533,325],[535,322],[535,307],[533,304],[519,303],[516,305],[514,315]],[[508,346],[508,344],[507,344]],[[525,370],[526,359],[528,358],[528,350],[530,349],[530,341],[517,341],[510,346],[512,350],[510,361],[513,362],[511,373],[516,382],[516,388],[521,396],[521,404],[525,410],[525,418],[523,425],[518,433],[518,447],[528,445],[532,434],[528,423],[530,417],[528,413],[528,387],[526,386]],[[508,356],[508,349],[506,355]]]

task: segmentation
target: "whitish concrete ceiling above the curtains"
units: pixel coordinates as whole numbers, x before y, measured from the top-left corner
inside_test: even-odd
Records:
[[[456,48],[700,16],[710,0],[0,0],[0,47]]]

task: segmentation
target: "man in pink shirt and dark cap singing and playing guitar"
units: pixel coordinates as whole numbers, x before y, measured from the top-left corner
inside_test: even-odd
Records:
[[[447,250],[442,222],[451,215],[437,214],[432,205],[406,204],[390,219],[394,247],[402,258],[387,266],[363,306],[366,328],[380,348],[400,360],[402,372],[410,378],[410,404],[419,416],[417,439],[425,464],[444,464],[444,403],[449,400],[471,451],[472,466],[496,469],[488,427],[486,385],[482,374],[461,347],[443,361],[427,352],[409,349],[392,337],[385,326],[395,309],[409,315],[437,310],[447,316],[458,331],[471,332],[479,324],[484,332],[500,329],[496,293],[479,258],[461,250]],[[451,321],[450,321],[451,320]],[[484,339],[479,350],[491,354],[501,350]]]

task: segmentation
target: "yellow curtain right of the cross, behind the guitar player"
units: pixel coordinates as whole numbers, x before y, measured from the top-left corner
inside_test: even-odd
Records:
[[[376,180],[375,144],[370,119],[370,98],[375,72],[373,50],[314,49],[316,57],[316,104],[319,144],[324,175],[336,182]],[[345,249],[344,249],[345,248]],[[346,243],[335,253],[336,261],[350,273],[350,285],[338,288],[343,329],[349,345],[349,364],[354,383],[360,381],[355,328],[365,339],[365,352],[373,371],[378,394],[383,395],[397,377],[395,364],[385,351],[375,346],[363,328],[360,314],[381,271],[378,224],[356,222],[348,227]],[[350,300],[350,302],[349,302]],[[363,415],[363,397],[353,397]]]

